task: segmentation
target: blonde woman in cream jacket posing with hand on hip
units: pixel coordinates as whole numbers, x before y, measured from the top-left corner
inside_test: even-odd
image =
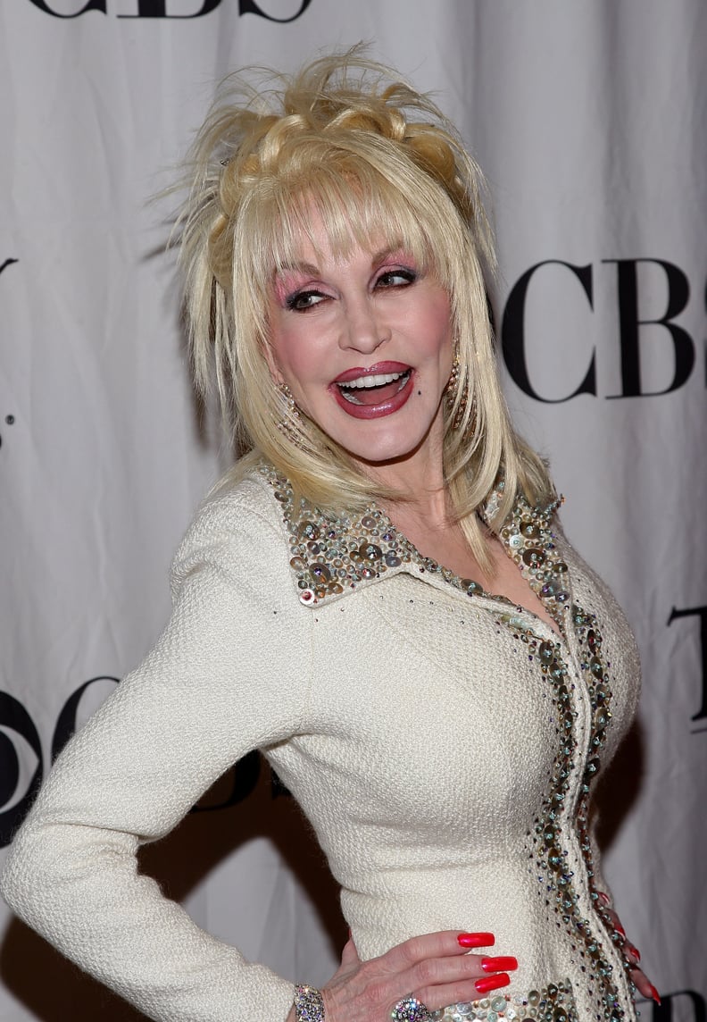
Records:
[[[633,983],[655,991],[590,799],[639,665],[508,419],[480,175],[358,51],[269,100],[217,104],[181,221],[196,377],[215,358],[248,453],[177,554],[157,646],[57,762],[5,895],[153,1019],[632,1019]],[[252,748],[341,884],[351,938],[321,991],[136,872]]]

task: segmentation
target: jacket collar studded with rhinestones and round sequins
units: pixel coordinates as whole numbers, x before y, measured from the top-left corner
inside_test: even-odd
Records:
[[[269,465],[262,465],[258,471],[281,507],[292,576],[299,601],[305,606],[340,599],[399,571],[436,576],[469,596],[511,606],[506,597],[486,593],[474,579],[461,578],[424,557],[375,505],[354,514],[325,513],[303,499],[295,507],[292,486],[286,478]],[[503,482],[483,508],[483,520],[492,518],[502,490]],[[557,555],[550,530],[558,503],[532,508],[519,496],[500,539],[552,617],[562,624],[570,594],[567,565]]]

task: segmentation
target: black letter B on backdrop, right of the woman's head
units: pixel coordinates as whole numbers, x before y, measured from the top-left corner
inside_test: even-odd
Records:
[[[682,271],[673,263],[661,259],[605,259],[615,263],[618,274],[619,338],[621,343],[621,393],[608,398],[648,398],[669,393],[682,386],[695,366],[693,339],[681,326],[672,320],[679,316],[690,299],[690,283]],[[668,304],[658,319],[641,319],[639,315],[639,263],[653,263],[665,271],[668,285]],[[640,328],[649,324],[665,327],[672,340],[675,369],[672,382],[663,390],[641,389],[641,339]]]

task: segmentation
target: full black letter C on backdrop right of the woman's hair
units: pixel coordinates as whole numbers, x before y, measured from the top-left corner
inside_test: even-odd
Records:
[[[506,301],[504,318],[501,327],[501,344],[504,353],[504,360],[511,374],[511,379],[518,384],[520,389],[535,401],[543,401],[547,404],[557,404],[561,401],[569,401],[576,398],[578,393],[593,393],[597,396],[597,368],[596,353],[592,350],[592,358],[584,374],[584,378],[576,390],[568,393],[566,398],[544,398],[539,394],[530,382],[528,376],[527,361],[525,358],[525,301],[528,293],[528,284],[537,270],[544,266],[565,266],[570,270],[581,284],[584,294],[590,304],[590,309],[594,311],[594,297],[592,285],[592,265],[573,266],[571,263],[564,263],[560,259],[548,259],[543,263],[535,263],[529,270],[516,281],[511,288],[511,292]]]

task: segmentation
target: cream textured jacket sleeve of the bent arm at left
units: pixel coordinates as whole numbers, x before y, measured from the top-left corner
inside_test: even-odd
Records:
[[[291,1008],[291,983],[197,927],[136,865],[242,755],[302,729],[311,614],[288,572],[283,537],[234,495],[202,510],[166,631],[68,743],[7,860],[16,914],[161,1022],[284,1022]]]

